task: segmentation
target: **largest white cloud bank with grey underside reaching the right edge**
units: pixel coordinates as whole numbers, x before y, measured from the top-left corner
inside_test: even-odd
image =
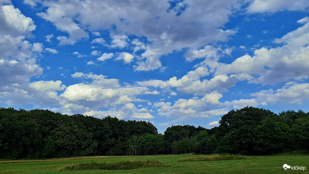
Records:
[[[231,64],[221,64],[215,74],[257,75],[249,83],[277,84],[291,79],[308,79],[309,23],[287,33],[275,43],[284,45],[277,48],[256,49],[253,56],[244,55]]]

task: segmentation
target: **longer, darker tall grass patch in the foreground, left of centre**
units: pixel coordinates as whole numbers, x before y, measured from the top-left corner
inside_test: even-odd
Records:
[[[131,170],[148,167],[167,167],[168,165],[156,160],[119,161],[115,163],[81,163],[61,168],[59,171],[71,170]]]

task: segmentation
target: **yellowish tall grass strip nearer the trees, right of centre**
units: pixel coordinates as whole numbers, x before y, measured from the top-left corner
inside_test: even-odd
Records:
[[[246,156],[242,155],[196,155],[188,158],[180,159],[179,161],[222,161],[222,160],[234,160],[234,159],[247,159]]]

